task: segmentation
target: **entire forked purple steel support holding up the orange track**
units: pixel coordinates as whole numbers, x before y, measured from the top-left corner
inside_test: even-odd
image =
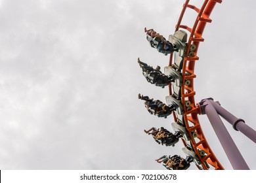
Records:
[[[236,131],[241,131],[251,141],[256,143],[256,131],[245,124],[244,120],[236,118],[233,114],[220,106],[218,102],[213,101],[212,98],[203,99],[200,103],[201,114],[206,114],[213,126],[213,129],[223,146],[233,169],[235,170],[249,170],[242,154],[238,150],[232,137],[224,126],[220,116],[229,122]],[[220,116],[219,116],[220,115]]]

